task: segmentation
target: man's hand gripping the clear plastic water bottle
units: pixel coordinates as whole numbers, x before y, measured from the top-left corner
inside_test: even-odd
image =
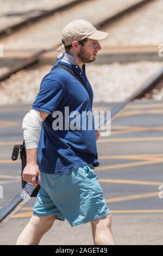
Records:
[[[36,177],[38,178],[36,181]],[[36,163],[27,163],[26,167],[23,170],[23,180],[32,183],[35,187],[40,182],[40,170]]]

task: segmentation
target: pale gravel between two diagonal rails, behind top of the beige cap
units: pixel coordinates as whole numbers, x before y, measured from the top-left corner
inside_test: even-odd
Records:
[[[80,3],[70,10],[36,23],[33,26],[18,31],[17,33],[1,40],[6,50],[39,50],[52,47],[61,42],[61,31],[71,20],[85,19],[96,24],[108,16],[112,16],[124,8],[140,0],[94,0]],[[95,15],[96,14],[96,15]]]

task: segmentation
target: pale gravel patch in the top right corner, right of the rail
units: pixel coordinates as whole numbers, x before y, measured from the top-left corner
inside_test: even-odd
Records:
[[[122,20],[106,28],[109,36],[104,44],[108,46],[159,46],[163,44],[162,13],[163,1],[157,0],[145,5],[136,13],[124,16]]]

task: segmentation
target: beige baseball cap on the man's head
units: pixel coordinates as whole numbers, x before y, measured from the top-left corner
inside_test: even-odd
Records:
[[[85,38],[93,40],[103,40],[108,33],[98,31],[95,26],[85,20],[74,20],[68,23],[61,33],[61,39],[65,45],[71,45],[73,41],[81,41]],[[64,48],[62,44],[57,51],[60,52]]]

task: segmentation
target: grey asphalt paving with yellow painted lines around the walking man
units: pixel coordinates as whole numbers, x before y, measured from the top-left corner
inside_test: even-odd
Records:
[[[109,110],[99,103],[94,108]],[[0,184],[9,203],[21,190],[20,161],[12,162],[14,144],[22,141],[21,122],[29,105],[0,107]],[[112,214],[118,245],[162,245],[163,101],[136,100],[111,120],[111,135],[98,140],[100,166],[96,173]],[[14,143],[16,142],[16,143]],[[159,198],[160,197],[160,198]],[[24,200],[0,224],[0,245],[14,245],[32,215],[35,198]],[[72,228],[56,221],[41,245],[93,245],[90,223]]]

